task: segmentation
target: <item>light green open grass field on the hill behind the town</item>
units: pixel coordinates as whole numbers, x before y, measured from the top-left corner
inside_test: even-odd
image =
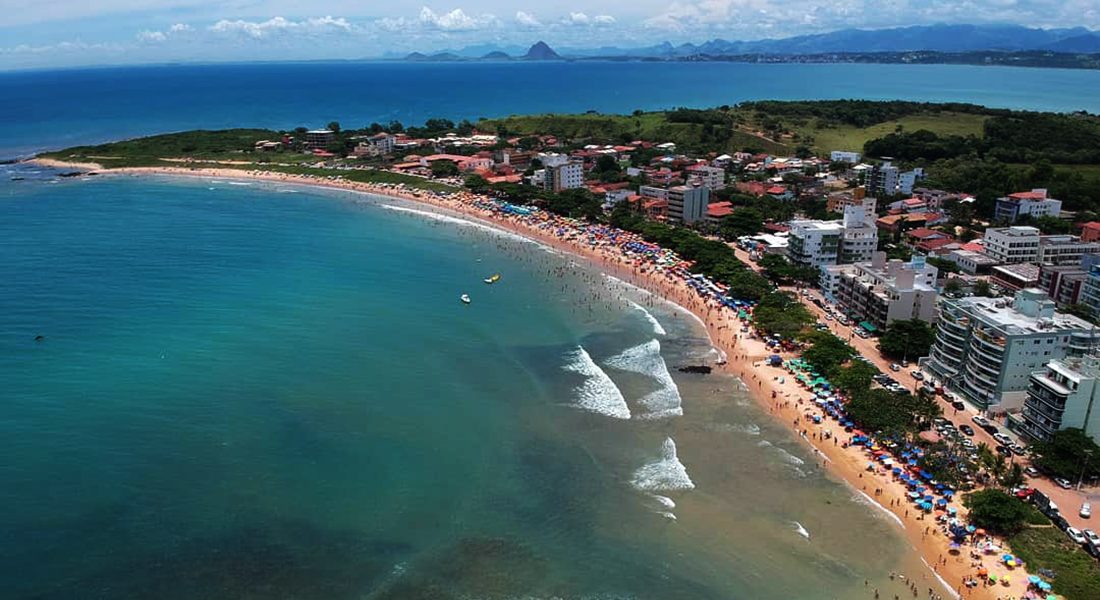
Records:
[[[898,126],[905,131],[926,129],[941,135],[978,135],[982,134],[982,123],[988,117],[982,114],[959,114],[952,112],[914,114],[895,121],[887,121],[868,128],[853,126],[821,126],[815,120],[802,126],[792,126],[802,137],[814,139],[814,148],[828,153],[834,150],[862,152],[868,140],[893,133]]]

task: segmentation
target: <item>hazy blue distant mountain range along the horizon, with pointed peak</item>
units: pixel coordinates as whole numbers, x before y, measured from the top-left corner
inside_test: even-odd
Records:
[[[481,44],[461,50],[425,55],[413,53],[414,61],[526,59],[558,58],[648,58],[690,59],[695,56],[769,55],[793,56],[831,53],[902,53],[902,52],[1031,52],[1045,51],[1072,54],[1100,53],[1100,33],[1086,28],[1033,29],[1022,25],[914,25],[883,30],[847,29],[829,33],[796,35],[751,42],[711,40],[701,44],[669,42],[644,47],[604,46],[562,48],[560,54],[543,42],[520,55],[517,46]],[[388,58],[397,58],[389,55]]]

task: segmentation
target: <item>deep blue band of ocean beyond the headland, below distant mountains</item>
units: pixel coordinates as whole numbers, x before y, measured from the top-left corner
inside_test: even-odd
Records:
[[[744,100],[1100,112],[1100,72],[960,65],[258,63],[0,73],[0,159],[188,129],[630,112]],[[858,149],[857,149],[858,150]]]

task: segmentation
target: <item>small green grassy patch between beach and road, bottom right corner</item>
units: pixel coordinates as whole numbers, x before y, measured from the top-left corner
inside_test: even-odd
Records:
[[[1054,591],[1068,600],[1092,600],[1100,590],[1100,563],[1057,527],[1032,527],[1014,535],[1009,545],[1027,570],[1054,571]]]

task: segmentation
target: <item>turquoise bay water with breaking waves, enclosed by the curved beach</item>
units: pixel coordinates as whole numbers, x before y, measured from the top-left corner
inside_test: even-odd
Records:
[[[713,356],[690,317],[395,204],[0,183],[6,598],[869,598],[919,575],[736,379],[675,370]]]

